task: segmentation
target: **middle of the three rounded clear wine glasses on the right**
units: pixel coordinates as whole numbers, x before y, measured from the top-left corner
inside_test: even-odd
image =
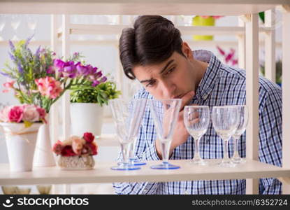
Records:
[[[238,108],[236,106],[214,106],[212,108],[212,125],[215,131],[224,141],[224,158],[219,163],[222,167],[234,167],[229,159],[229,139],[238,128]]]

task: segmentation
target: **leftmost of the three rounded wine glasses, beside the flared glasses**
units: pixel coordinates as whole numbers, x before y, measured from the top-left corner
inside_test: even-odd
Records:
[[[210,109],[208,106],[184,106],[184,125],[194,138],[194,159],[190,162],[195,165],[205,165],[206,162],[198,153],[199,140],[208,130],[210,124]]]

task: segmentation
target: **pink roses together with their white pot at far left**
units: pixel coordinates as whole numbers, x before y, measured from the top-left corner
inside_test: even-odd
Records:
[[[11,171],[31,171],[38,129],[46,122],[45,116],[44,109],[30,104],[6,106],[0,111]]]

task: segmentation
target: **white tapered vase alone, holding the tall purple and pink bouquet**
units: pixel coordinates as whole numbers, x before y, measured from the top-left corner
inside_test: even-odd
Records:
[[[47,115],[46,120],[48,123],[43,123],[43,125],[39,127],[34,153],[34,167],[53,167],[56,165],[50,141],[49,114]]]

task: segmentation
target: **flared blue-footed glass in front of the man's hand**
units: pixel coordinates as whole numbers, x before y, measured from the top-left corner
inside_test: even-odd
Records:
[[[169,148],[175,129],[178,113],[180,112],[181,99],[150,100],[150,110],[157,130],[157,138],[161,144],[162,164],[153,165],[152,169],[179,169],[177,165],[168,162]]]

